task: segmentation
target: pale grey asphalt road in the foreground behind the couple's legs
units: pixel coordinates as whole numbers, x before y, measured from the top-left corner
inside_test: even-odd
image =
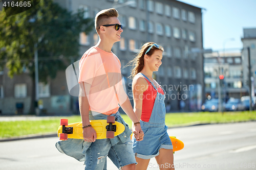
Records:
[[[256,122],[168,129],[185,144],[174,154],[175,169],[256,169]],[[84,169],[83,162],[61,154],[57,137],[0,142],[0,169]],[[159,169],[156,160],[147,169]],[[167,165],[162,165],[167,166]],[[108,169],[117,169],[108,160]]]

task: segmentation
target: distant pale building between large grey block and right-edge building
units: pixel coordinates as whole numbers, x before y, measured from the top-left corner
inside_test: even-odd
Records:
[[[243,83],[243,63],[241,53],[212,53],[204,55],[205,97],[219,98],[220,75],[224,76],[220,84],[221,98],[241,99],[248,91]]]

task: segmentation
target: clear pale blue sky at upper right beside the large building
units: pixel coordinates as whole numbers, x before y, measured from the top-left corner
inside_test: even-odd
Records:
[[[203,10],[204,48],[242,48],[243,28],[256,28],[256,0],[179,0]],[[228,40],[234,38],[233,41]]]

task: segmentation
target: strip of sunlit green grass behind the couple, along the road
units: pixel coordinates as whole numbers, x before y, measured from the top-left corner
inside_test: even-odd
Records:
[[[122,117],[131,127],[132,120],[126,114],[122,114]],[[48,120],[0,122],[0,138],[57,132],[60,118],[68,118],[69,123],[81,122],[80,116],[53,117]],[[224,114],[219,112],[167,113],[165,123],[169,127],[175,127],[186,124],[232,123],[250,120],[256,120],[256,111],[224,112]]]

